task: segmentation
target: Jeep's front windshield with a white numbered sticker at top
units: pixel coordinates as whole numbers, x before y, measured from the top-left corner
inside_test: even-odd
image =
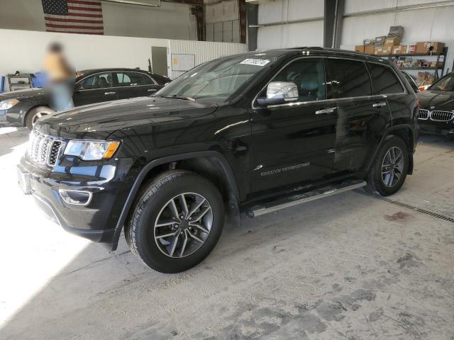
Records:
[[[275,60],[275,56],[260,53],[206,62],[182,74],[158,91],[156,96],[225,102]]]

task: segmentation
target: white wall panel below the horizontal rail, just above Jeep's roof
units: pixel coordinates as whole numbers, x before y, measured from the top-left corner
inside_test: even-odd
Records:
[[[323,46],[323,21],[260,27],[257,39],[258,50],[280,47]]]

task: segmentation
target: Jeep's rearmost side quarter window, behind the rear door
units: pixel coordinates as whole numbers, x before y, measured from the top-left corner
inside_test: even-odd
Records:
[[[380,64],[369,63],[370,74],[372,76],[372,87],[374,94],[402,94],[402,87],[399,78],[391,69]]]

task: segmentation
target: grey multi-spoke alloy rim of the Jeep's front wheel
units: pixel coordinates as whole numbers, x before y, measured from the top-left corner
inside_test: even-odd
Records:
[[[209,236],[213,210],[199,193],[181,193],[169,200],[157,215],[153,229],[160,251],[172,258],[193,254]]]

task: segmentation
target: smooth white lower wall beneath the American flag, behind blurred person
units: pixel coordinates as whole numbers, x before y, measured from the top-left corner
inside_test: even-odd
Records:
[[[0,29],[0,46],[3,46],[0,54],[0,74],[14,73],[16,70],[30,73],[39,71],[43,66],[45,49],[53,40],[65,44],[69,60],[76,69],[148,69],[151,46],[168,46],[167,39]]]

